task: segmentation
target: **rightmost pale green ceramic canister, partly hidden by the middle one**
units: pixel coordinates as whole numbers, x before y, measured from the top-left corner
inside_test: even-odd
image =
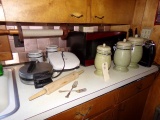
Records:
[[[138,36],[129,37],[128,40],[132,43],[132,51],[131,51],[131,63],[129,65],[130,68],[139,68],[138,62],[142,58],[143,54],[143,42],[144,39]]]

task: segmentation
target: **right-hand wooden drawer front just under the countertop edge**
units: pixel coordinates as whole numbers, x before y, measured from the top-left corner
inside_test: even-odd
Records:
[[[154,81],[154,76],[155,73],[119,88],[118,102],[122,102],[149,87]]]

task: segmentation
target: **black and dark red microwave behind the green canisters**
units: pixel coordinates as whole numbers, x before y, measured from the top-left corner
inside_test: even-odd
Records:
[[[105,31],[105,32],[70,32],[67,37],[67,47],[80,60],[81,65],[89,66],[94,64],[96,49],[98,45],[105,43],[111,47],[111,58],[113,60],[113,46],[126,38],[127,32],[123,31]]]

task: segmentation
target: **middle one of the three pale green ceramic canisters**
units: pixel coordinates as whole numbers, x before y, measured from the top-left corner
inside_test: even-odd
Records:
[[[131,61],[131,45],[130,42],[126,42],[126,39],[117,42],[113,58],[115,64],[113,67],[114,70],[121,72],[128,71],[128,66]]]

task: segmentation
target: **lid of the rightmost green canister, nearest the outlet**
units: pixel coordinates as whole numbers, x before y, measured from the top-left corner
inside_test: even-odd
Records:
[[[135,37],[129,37],[128,40],[132,43],[132,44],[136,44],[136,45],[142,45],[144,39],[140,38],[138,36]]]

